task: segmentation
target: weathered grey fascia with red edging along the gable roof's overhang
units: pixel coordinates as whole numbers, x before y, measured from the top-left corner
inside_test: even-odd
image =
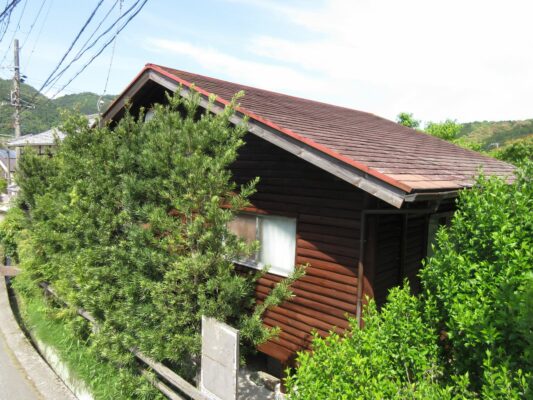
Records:
[[[157,66],[148,64],[105,111],[102,122],[111,121],[115,116],[119,115],[129,100],[134,98],[136,93],[149,81],[155,82],[173,93],[179,91],[180,96],[185,98],[190,97],[191,90],[194,90],[200,94],[200,106],[205,109],[209,107],[209,110],[216,114],[222,112],[229,103],[227,100],[217,97],[215,103],[209,105],[209,92],[195,87],[192,83],[157,68]],[[401,208],[404,202],[419,201],[427,197],[417,197],[416,193],[410,193],[411,188],[402,185],[400,182],[385,175],[381,176],[382,174],[370,171],[355,162],[346,162],[338,154],[323,149],[314,142],[290,131],[288,132],[286,129],[277,127],[270,121],[250,113],[244,108],[237,107],[231,122],[236,125],[243,124],[245,117],[248,118],[246,124],[250,133],[308,161],[396,208]],[[449,197],[451,193],[446,192],[446,197]],[[457,192],[453,191],[453,193],[456,195]],[[435,195],[440,198],[439,194],[436,193]],[[433,196],[433,199],[435,199],[435,196]]]

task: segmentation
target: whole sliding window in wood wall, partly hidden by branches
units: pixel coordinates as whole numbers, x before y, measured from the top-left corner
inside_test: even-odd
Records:
[[[260,244],[257,254],[238,260],[238,263],[258,269],[269,265],[269,272],[282,276],[288,276],[294,271],[296,219],[238,214],[228,228],[247,243],[257,240]]]

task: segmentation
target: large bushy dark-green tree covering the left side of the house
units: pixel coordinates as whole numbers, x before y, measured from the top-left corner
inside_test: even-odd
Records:
[[[218,115],[201,112],[197,96],[169,103],[112,130],[73,116],[53,157],[24,154],[17,179],[29,227],[15,283],[26,292],[49,282],[94,315],[91,346],[105,359],[129,365],[135,346],[192,378],[202,315],[241,329],[245,349],[276,331],[256,308],[261,273],[233,264],[257,246],[227,229],[255,190],[256,181],[238,187],[229,169],[246,126],[230,123],[234,102]],[[283,284],[266,303],[290,295]]]

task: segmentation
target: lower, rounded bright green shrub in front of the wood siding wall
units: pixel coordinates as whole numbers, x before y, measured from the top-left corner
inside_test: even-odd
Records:
[[[365,309],[365,327],[346,336],[315,336],[287,379],[291,399],[451,399],[465,394],[439,384],[439,349],[409,285],[393,289],[381,312]]]

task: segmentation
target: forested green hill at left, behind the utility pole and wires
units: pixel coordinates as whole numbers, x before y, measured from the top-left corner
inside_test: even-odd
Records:
[[[13,87],[11,80],[0,79],[0,134],[13,134],[13,107],[9,106],[10,93]],[[35,108],[24,108],[21,117],[22,134],[39,133],[57,125],[60,119],[61,109],[76,109],[83,114],[97,113],[96,102],[100,97],[96,93],[84,92],[69,94],[50,100],[37,93],[30,85],[21,85],[21,98],[23,101],[32,101]],[[104,96],[106,107],[115,96]]]

